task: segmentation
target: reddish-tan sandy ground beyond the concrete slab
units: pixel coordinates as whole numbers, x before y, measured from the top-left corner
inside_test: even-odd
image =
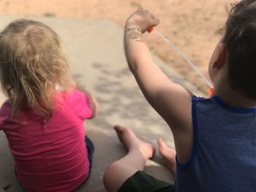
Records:
[[[129,15],[142,6],[161,23],[158,30],[175,43],[208,78],[208,61],[222,37],[232,0],[0,0],[2,15],[44,15],[61,18],[108,18],[124,27]],[[151,50],[201,91],[205,82],[157,34],[146,34]]]

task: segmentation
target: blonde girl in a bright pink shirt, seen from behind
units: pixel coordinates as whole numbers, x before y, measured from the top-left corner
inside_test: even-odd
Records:
[[[83,120],[97,114],[97,101],[72,80],[56,32],[34,20],[4,28],[0,81],[8,97],[0,130],[20,185],[26,191],[73,191],[82,185],[94,150]]]

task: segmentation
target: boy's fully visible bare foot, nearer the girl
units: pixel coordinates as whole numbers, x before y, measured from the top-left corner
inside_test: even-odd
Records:
[[[140,150],[145,159],[153,158],[156,152],[153,145],[143,142],[135,136],[130,128],[124,126],[114,126],[119,140],[124,144],[127,150]]]

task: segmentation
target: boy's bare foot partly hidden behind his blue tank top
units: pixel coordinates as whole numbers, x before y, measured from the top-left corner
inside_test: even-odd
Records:
[[[162,155],[162,158],[165,159],[167,167],[176,174],[176,150],[171,149],[165,145],[165,142],[162,138],[158,139],[159,153]]]

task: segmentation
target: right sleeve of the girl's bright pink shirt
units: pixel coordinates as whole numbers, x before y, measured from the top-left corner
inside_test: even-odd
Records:
[[[91,118],[91,104],[89,97],[78,90],[72,90],[68,99],[69,106],[82,120]]]

